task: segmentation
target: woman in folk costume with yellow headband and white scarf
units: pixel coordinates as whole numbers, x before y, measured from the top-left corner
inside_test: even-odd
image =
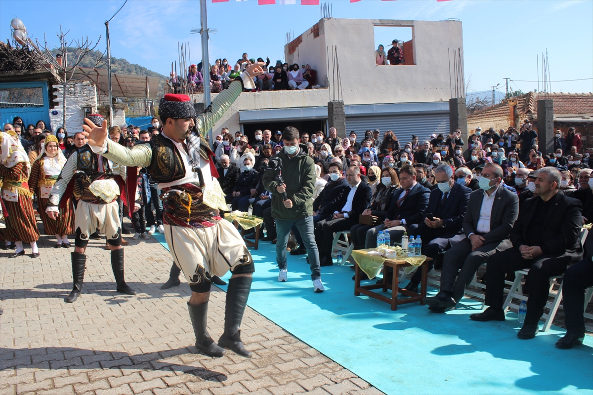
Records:
[[[37,192],[37,212],[43,221],[46,235],[56,235],[58,242],[55,248],[70,248],[68,235],[74,233],[74,209],[72,199],[66,202],[65,207],[60,207],[58,218],[51,219],[45,212],[49,195],[52,193],[53,184],[56,183],[62,168],[66,164],[66,157],[58,146],[58,139],[50,134],[45,139],[42,155],[31,165],[29,177],[29,191]]]

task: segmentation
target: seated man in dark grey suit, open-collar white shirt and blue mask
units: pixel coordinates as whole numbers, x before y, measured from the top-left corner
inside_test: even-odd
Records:
[[[435,297],[424,298],[429,310],[444,313],[455,309],[477,269],[488,257],[511,248],[508,238],[519,213],[519,198],[506,188],[500,188],[503,176],[502,167],[496,163],[484,166],[480,189],[471,192],[463,219],[467,238],[445,252],[441,291]]]

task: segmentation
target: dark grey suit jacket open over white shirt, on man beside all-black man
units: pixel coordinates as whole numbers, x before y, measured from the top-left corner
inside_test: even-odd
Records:
[[[466,237],[470,237],[470,233],[477,232],[483,201],[483,190],[471,192],[470,203],[467,205],[466,216],[463,219],[463,232]],[[508,239],[518,214],[519,197],[506,188],[500,188],[499,186],[495,192],[492,211],[490,212],[490,232],[482,236],[486,239],[484,244],[500,244],[503,240]]]

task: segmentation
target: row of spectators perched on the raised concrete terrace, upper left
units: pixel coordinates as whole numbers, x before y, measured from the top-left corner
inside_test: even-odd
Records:
[[[209,70],[209,84],[210,91],[213,93],[221,92],[227,88],[234,79],[238,78],[241,72],[253,63],[265,64],[266,72],[262,75],[254,77],[256,89],[253,91],[281,91],[288,89],[311,89],[315,86],[317,81],[317,72],[311,69],[310,65],[301,65],[297,63],[289,65],[282,63],[280,60],[276,61],[274,66],[270,66],[270,58],[267,57],[264,61],[261,57],[257,60],[249,58],[247,53],[244,53],[241,59],[238,59],[234,64],[229,63],[227,59],[216,59],[215,63]],[[188,92],[203,92],[204,91],[204,73],[202,70],[202,63],[197,65],[190,65],[187,70],[187,76],[184,80],[177,76],[173,71],[170,73],[170,78],[167,79],[167,86],[171,93],[178,93],[182,90],[182,85],[187,84]]]

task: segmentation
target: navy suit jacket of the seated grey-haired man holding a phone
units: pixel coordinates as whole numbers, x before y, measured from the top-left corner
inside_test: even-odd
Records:
[[[467,203],[470,201],[470,188],[464,187],[463,185],[453,184],[453,187],[449,191],[445,205],[441,208],[441,213],[436,213],[439,201],[443,197],[443,192],[437,187],[431,191],[431,195],[428,199],[428,208],[426,213],[431,213],[435,217],[439,217],[445,223],[444,228],[439,228],[442,232],[442,236],[446,239],[458,235],[461,233],[461,227],[463,226],[463,217],[466,215]],[[428,241],[428,240],[427,240]]]

